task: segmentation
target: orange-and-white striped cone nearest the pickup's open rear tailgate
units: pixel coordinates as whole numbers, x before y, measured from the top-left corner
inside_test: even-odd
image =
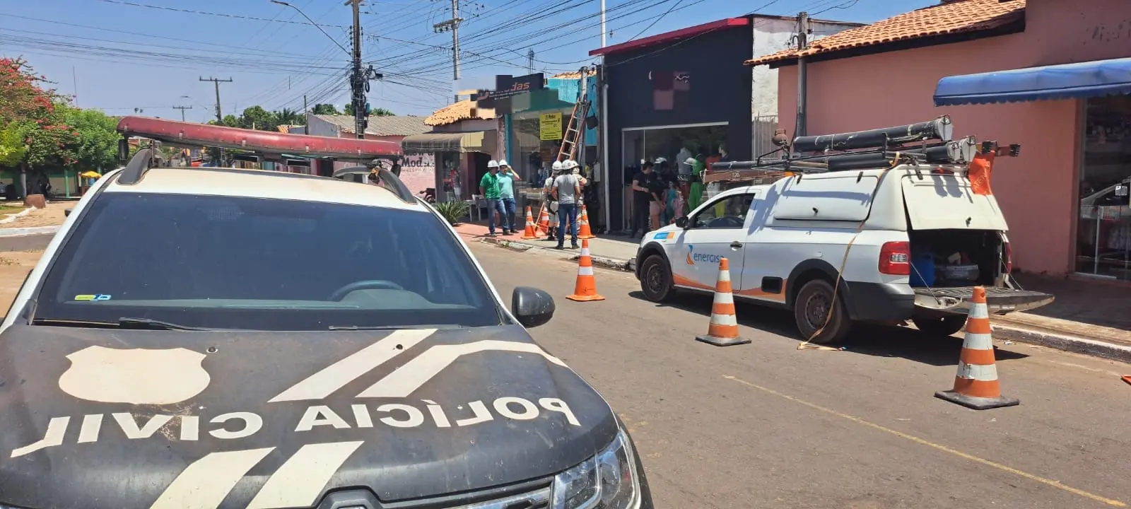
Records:
[[[955,388],[940,390],[934,396],[974,409],[1000,408],[1021,403],[1017,398],[1001,395],[998,365],[993,356],[990,309],[986,308],[986,288],[982,286],[974,287],[974,295],[970,297],[966,338],[958,359]]]

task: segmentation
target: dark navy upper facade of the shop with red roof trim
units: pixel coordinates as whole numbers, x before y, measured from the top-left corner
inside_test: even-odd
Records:
[[[729,18],[590,52],[605,57],[610,224],[627,224],[640,159],[751,155],[751,18]],[[708,159],[710,161],[710,159]],[[604,166],[604,164],[603,164]]]

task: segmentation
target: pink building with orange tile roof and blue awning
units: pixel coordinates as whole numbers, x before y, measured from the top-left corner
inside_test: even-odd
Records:
[[[948,114],[956,137],[1021,144],[993,173],[1015,266],[1131,279],[1131,1],[949,0],[803,53],[806,133]],[[787,90],[797,57],[746,63],[778,68]],[[796,112],[780,94],[779,127],[794,132]]]

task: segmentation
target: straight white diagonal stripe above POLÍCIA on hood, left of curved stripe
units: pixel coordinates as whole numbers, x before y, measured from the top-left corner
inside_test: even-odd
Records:
[[[435,329],[404,329],[381,338],[356,353],[353,353],[326,369],[307,377],[269,399],[275,402],[300,402],[305,399],[323,399],[334,391],[345,387],[359,377],[374,368],[400,355],[417,343],[435,333]]]

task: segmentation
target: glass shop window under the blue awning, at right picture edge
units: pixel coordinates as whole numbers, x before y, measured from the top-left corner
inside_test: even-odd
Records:
[[[1131,96],[1088,100],[1077,270],[1131,279]]]

